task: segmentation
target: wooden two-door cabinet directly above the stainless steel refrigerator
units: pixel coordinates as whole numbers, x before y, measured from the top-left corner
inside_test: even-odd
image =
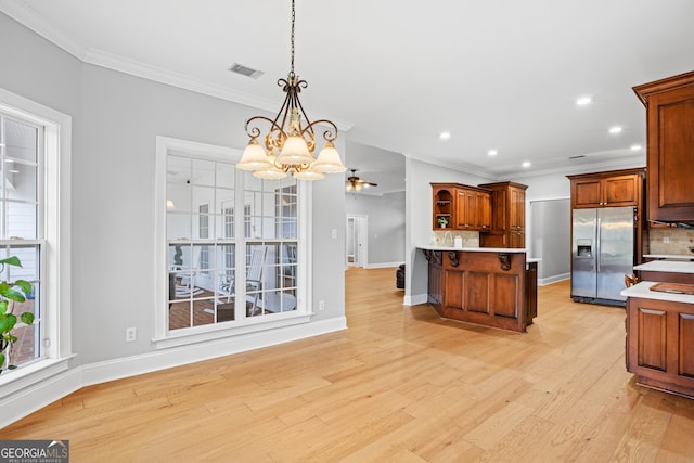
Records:
[[[643,168],[568,176],[571,208],[641,206]]]

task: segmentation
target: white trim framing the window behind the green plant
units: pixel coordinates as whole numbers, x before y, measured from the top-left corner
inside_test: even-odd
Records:
[[[67,368],[72,352],[72,248],[70,248],[70,116],[36,103],[24,97],[0,89],[0,111],[44,127],[43,204],[39,220],[44,224],[41,253],[46,260],[41,269],[43,339],[46,355],[26,368],[0,375],[0,396],[36,384],[46,375],[44,370]],[[64,218],[64,219],[62,219]],[[63,278],[61,278],[61,275]],[[48,346],[44,344],[48,339]],[[13,383],[11,386],[10,384]]]

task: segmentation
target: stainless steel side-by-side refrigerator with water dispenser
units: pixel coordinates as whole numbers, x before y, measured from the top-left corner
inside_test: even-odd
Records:
[[[634,263],[634,208],[574,209],[571,217],[571,297],[624,305],[619,293]]]

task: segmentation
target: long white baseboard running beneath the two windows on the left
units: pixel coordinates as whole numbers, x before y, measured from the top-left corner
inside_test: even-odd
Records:
[[[345,317],[336,317],[281,330],[249,333],[190,346],[155,350],[140,356],[90,363],[67,370],[63,369],[53,375],[44,374],[47,377],[41,378],[41,381],[37,381],[26,388],[3,397],[0,428],[85,386],[231,356],[346,329],[347,319]],[[46,438],[51,439],[52,437],[55,436],[47,436]]]

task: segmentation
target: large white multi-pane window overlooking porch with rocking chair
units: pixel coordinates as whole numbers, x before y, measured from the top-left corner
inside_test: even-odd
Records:
[[[230,153],[231,152],[231,153]],[[307,317],[297,180],[235,169],[240,152],[157,138],[166,250],[156,339]]]

